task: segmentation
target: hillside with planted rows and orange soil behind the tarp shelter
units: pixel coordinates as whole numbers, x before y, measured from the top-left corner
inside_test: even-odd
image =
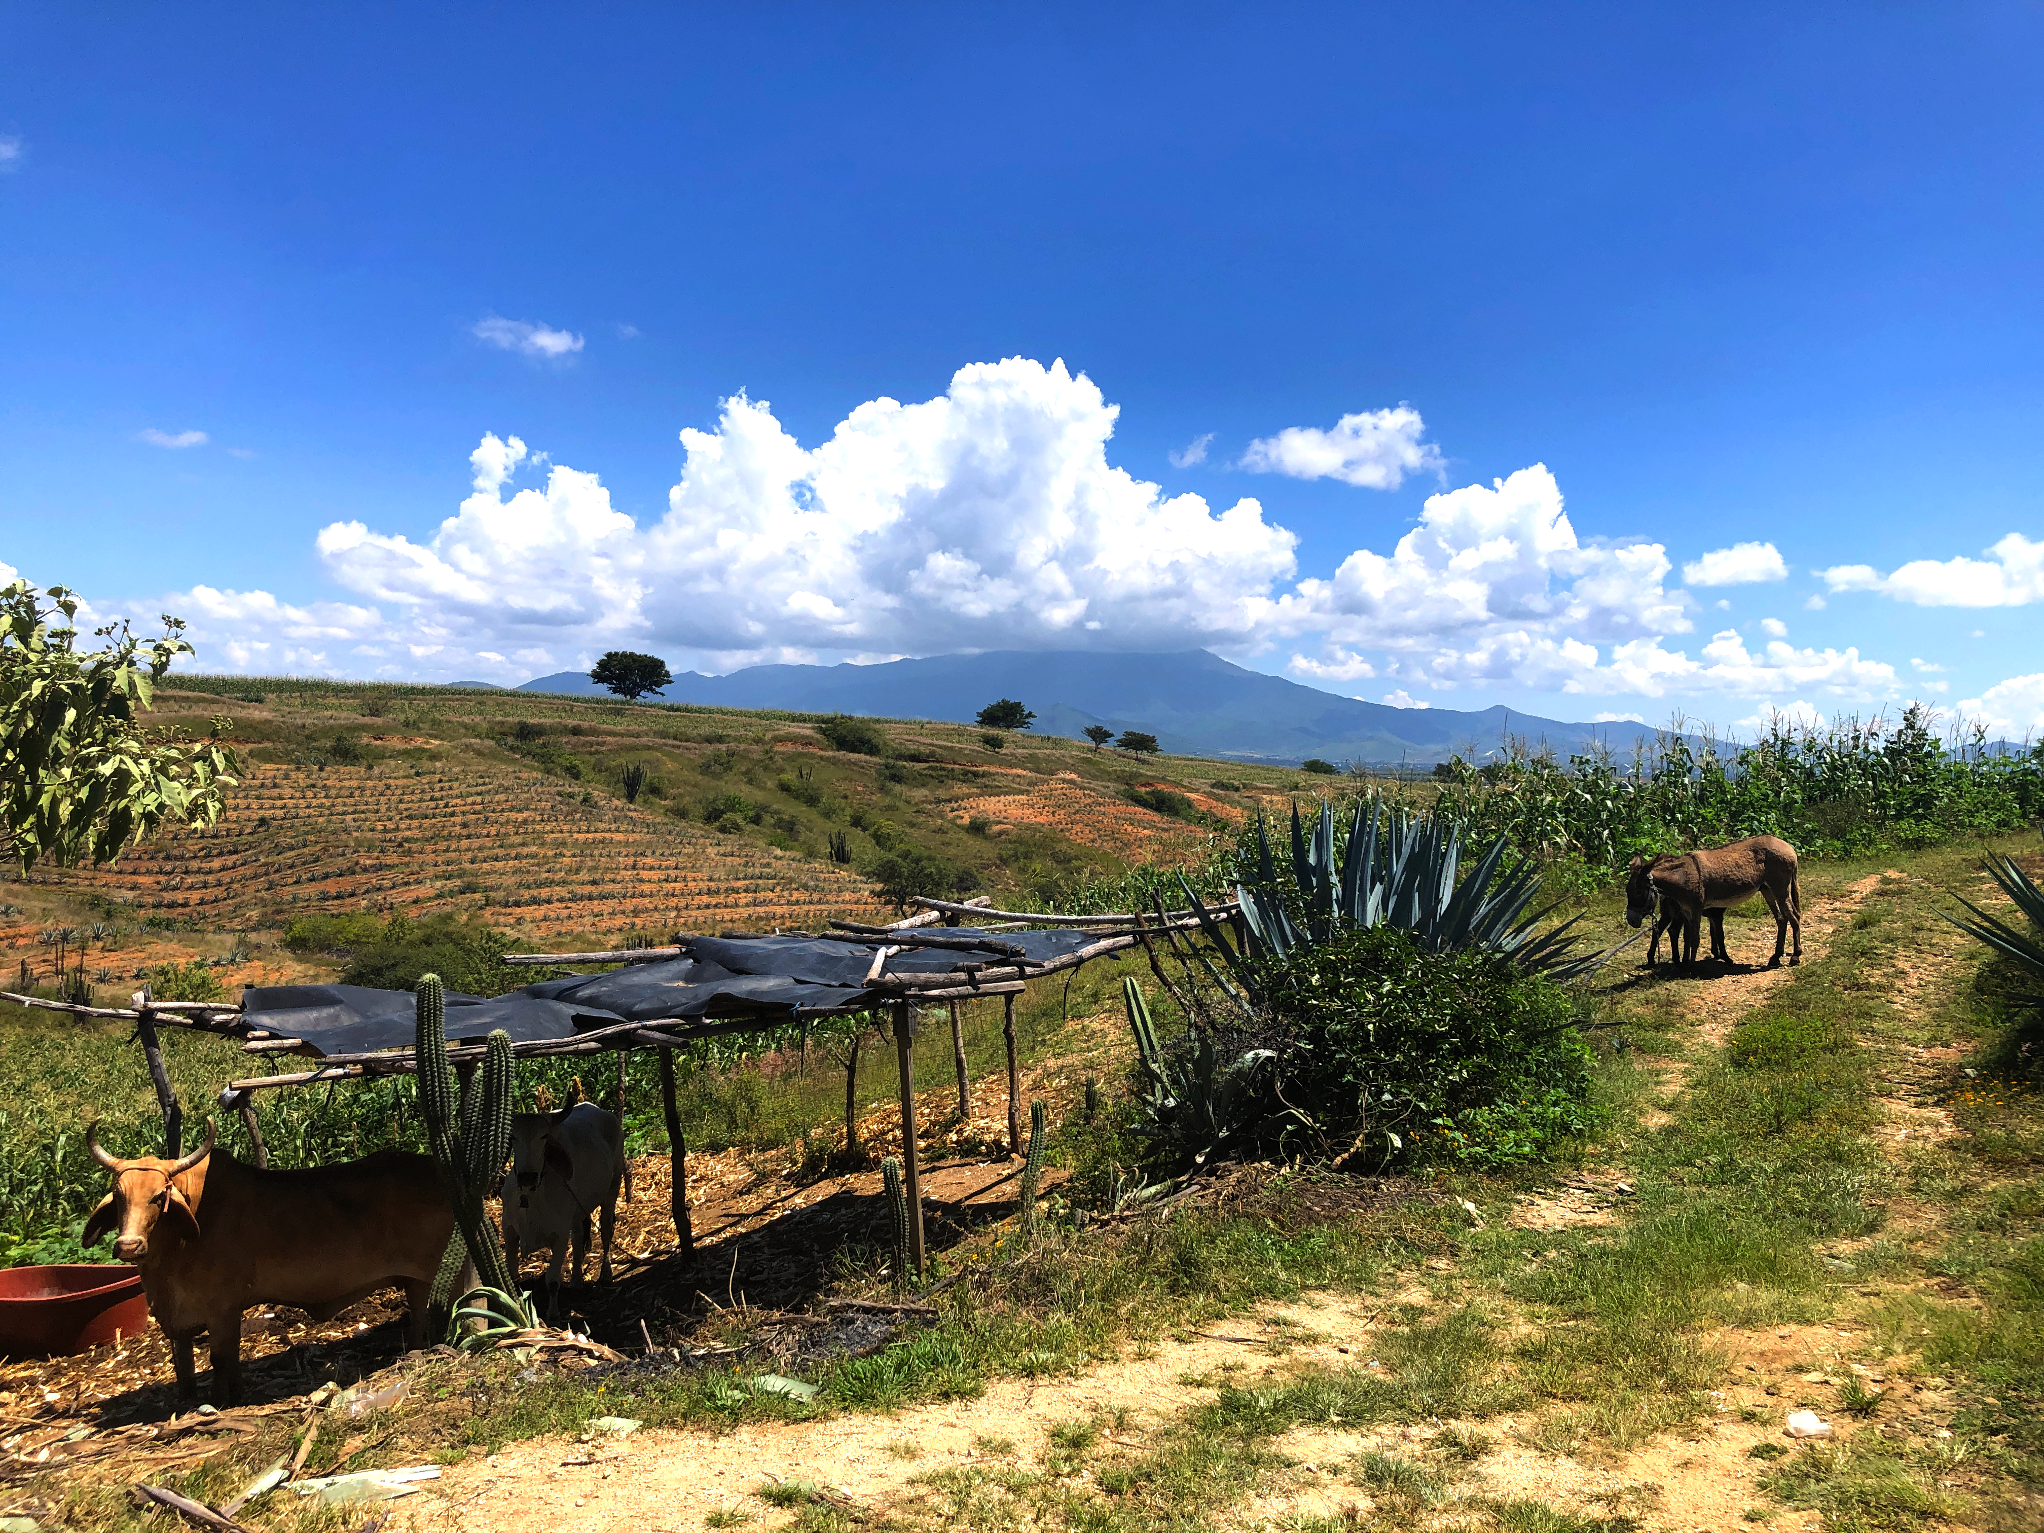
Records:
[[[39,922],[251,934],[458,912],[576,944],[814,926],[885,910],[903,861],[930,891],[1057,897],[1196,861],[1257,803],[1310,791],[928,722],[861,719],[854,738],[801,713],[437,687],[198,681],[164,689],[151,724],[221,715],[243,758],[223,822],[112,869],[37,871]]]

